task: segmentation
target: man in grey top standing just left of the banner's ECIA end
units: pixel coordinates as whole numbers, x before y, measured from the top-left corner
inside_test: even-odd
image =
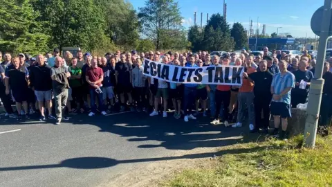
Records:
[[[143,66],[140,58],[136,59],[136,66],[133,69],[133,91],[134,98],[137,102],[137,112],[140,112],[141,109],[145,111],[147,105],[146,101],[146,88],[145,88],[145,76],[143,75]]]

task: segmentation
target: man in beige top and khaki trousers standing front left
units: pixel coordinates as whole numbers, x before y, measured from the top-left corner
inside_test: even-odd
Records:
[[[63,120],[68,120],[67,117],[62,116],[62,110],[66,107],[68,98],[68,80],[71,73],[64,67],[62,57],[55,57],[55,65],[50,69],[50,78],[52,79],[53,94],[55,97],[55,114],[57,115],[56,125],[59,125]],[[65,74],[66,78],[61,78],[60,74]]]

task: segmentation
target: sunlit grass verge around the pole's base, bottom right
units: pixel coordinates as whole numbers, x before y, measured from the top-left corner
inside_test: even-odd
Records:
[[[314,150],[302,144],[303,136],[296,136],[230,145],[160,186],[332,186],[331,136],[317,137]]]

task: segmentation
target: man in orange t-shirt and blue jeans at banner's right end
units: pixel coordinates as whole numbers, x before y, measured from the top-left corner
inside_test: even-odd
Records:
[[[254,56],[249,55],[246,57],[246,73],[254,73],[256,72],[256,68],[252,66],[254,63]],[[239,109],[237,112],[237,124],[232,125],[232,127],[242,127],[244,112],[246,107],[248,107],[248,118],[249,118],[249,128],[250,130],[254,130],[254,122],[255,122],[255,108],[254,108],[254,84],[250,82],[247,78],[243,77],[242,86],[239,89],[238,96],[238,105]]]

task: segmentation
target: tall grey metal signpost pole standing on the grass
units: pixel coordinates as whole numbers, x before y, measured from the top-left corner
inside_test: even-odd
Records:
[[[320,32],[320,44],[318,45],[317,64],[315,77],[311,80],[309,100],[306,116],[306,127],[304,129],[304,140],[307,148],[315,147],[317,123],[320,114],[320,103],[322,101],[322,89],[324,86],[323,67],[326,53],[327,38],[331,23],[332,0],[325,0],[322,18],[322,28]]]

